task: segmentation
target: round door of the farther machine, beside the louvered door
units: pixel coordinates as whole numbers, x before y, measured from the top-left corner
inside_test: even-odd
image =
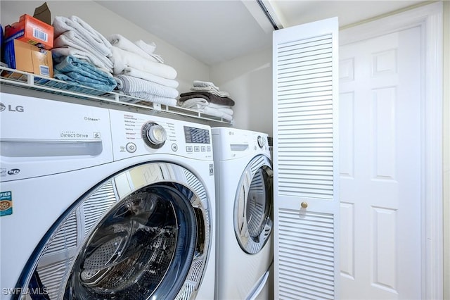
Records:
[[[240,177],[234,202],[234,232],[240,248],[258,253],[271,234],[273,171],[266,156],[256,156]]]

